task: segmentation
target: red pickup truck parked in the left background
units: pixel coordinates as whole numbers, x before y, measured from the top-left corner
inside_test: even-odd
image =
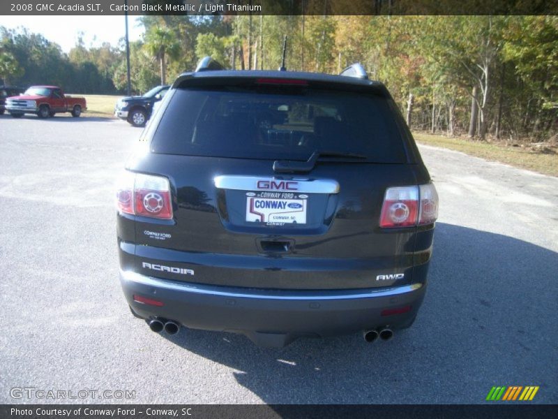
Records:
[[[59,112],[72,112],[73,117],[79,117],[87,107],[84,98],[64,96],[60,87],[32,86],[20,96],[7,98],[6,110],[14,118],[19,118],[25,113],[48,118]]]

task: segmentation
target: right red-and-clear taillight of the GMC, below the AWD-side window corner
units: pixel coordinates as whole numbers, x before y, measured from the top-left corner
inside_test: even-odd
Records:
[[[438,195],[433,184],[397,186],[386,190],[379,226],[398,228],[430,224],[438,216]]]

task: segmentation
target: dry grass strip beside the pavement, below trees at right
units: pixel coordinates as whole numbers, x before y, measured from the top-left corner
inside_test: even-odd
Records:
[[[558,154],[556,153],[541,153],[535,152],[529,147],[512,147],[504,144],[442,137],[441,135],[413,133],[413,136],[421,144],[457,150],[471,156],[499,161],[517,168],[558,176]]]

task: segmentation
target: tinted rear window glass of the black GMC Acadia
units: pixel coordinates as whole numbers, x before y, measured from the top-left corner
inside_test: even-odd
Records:
[[[404,163],[389,99],[317,89],[179,88],[153,133],[160,154],[307,160],[315,152]]]

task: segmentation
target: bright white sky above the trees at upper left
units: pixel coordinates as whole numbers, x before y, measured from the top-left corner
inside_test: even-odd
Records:
[[[140,39],[144,32],[144,27],[136,19],[137,16],[128,17],[130,41]],[[125,33],[123,16],[0,16],[0,26],[8,29],[27,27],[29,31],[59,44],[63,52],[69,52],[75,46],[80,31],[84,32],[86,47],[98,47],[103,42],[116,47]]]

